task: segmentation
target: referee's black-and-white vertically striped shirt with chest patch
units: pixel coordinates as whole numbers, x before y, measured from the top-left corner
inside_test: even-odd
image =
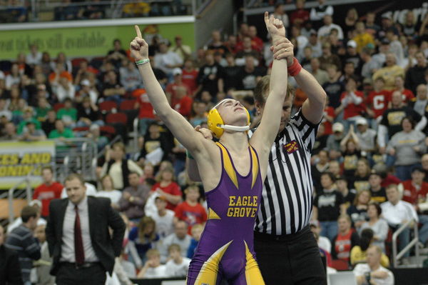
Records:
[[[298,111],[278,134],[270,150],[255,231],[264,234],[294,234],[303,229],[312,214],[310,156],[318,125]]]

